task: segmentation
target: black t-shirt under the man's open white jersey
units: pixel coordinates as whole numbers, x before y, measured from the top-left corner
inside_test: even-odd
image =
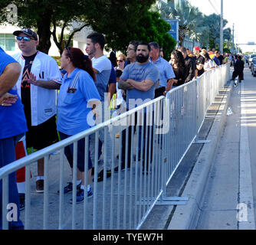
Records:
[[[25,59],[25,67],[22,73],[21,80],[21,102],[24,105],[25,117],[27,119],[27,125],[31,126],[31,96],[30,96],[30,83],[25,81],[29,78],[29,74],[31,72],[31,67],[34,61],[34,57],[37,53],[31,56],[22,56]]]

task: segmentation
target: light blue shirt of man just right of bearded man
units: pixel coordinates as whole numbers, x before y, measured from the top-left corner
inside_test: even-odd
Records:
[[[167,81],[169,79],[175,78],[175,73],[173,72],[171,64],[168,61],[159,57],[156,62],[153,62],[150,58],[149,61],[154,64],[157,69],[159,70],[159,80],[160,84],[159,87],[166,87]]]

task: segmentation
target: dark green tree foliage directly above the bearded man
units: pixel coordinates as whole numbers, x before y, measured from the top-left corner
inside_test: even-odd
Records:
[[[149,11],[153,2],[155,1],[116,1],[111,8],[104,5],[100,10],[103,15],[92,15],[88,18],[88,23],[95,31],[106,34],[107,50],[115,49],[125,53],[130,41],[157,41],[169,53],[176,41],[167,33],[170,25],[158,13]],[[93,5],[96,6],[95,3]],[[107,21],[100,21],[104,18]]]

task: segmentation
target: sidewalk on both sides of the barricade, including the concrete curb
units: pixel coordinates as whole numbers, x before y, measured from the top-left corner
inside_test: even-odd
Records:
[[[202,199],[203,185],[205,183],[205,178],[208,176],[209,169],[211,168],[210,164],[214,156],[214,149],[222,132],[223,123],[225,122],[225,115],[227,111],[227,100],[228,92],[231,90],[231,87],[226,87],[220,91],[219,96],[216,97],[216,102],[208,109],[208,118],[205,119],[205,123],[202,126],[202,129],[199,133],[200,139],[211,139],[210,144],[193,144],[182,163],[179,165],[175,175],[173,175],[172,180],[169,183],[167,188],[167,196],[181,196],[188,197],[189,201],[185,206],[175,206],[175,205],[157,205],[153,207],[153,211],[150,212],[146,221],[144,222],[141,230],[165,230],[165,229],[187,229],[188,227],[184,226],[188,222],[194,221],[198,217],[198,213],[195,210],[198,209],[199,200]],[[216,117],[215,117],[216,116]],[[201,164],[200,164],[201,163]],[[31,165],[31,171],[33,178],[31,179],[31,229],[42,229],[43,224],[43,206],[44,206],[44,194],[38,194],[35,191],[35,178],[36,178],[37,165],[34,163]],[[195,173],[197,172],[197,175]],[[56,152],[55,155],[51,155],[49,161],[49,217],[48,217],[48,229],[58,229],[58,219],[59,219],[59,195],[57,191],[59,190],[59,153]],[[134,172],[133,172],[134,173]],[[199,175],[201,174],[201,175]],[[114,174],[117,176],[117,174]],[[125,173],[122,173],[122,179],[124,179]],[[130,175],[130,172],[129,172]],[[64,169],[64,183],[71,181],[72,175],[70,167],[65,162]],[[108,178],[107,181],[110,182],[111,178]],[[116,181],[117,178],[114,178]],[[197,184],[197,185],[196,185]],[[92,185],[94,183],[92,182]],[[114,183],[114,185],[116,185]],[[100,186],[100,185],[99,185]],[[99,188],[100,194],[103,191],[103,186]],[[189,188],[189,190],[188,190]],[[72,205],[70,204],[70,199],[72,198],[71,194],[64,195],[64,224],[63,229],[71,229],[72,221]],[[110,210],[110,200],[109,195],[107,198],[107,210]],[[100,216],[101,198],[99,199],[99,213]],[[121,199],[122,200],[122,199]],[[123,201],[123,200],[122,200]],[[130,208],[129,205],[126,207]],[[93,211],[93,200],[90,199],[87,204],[87,211],[92,213]],[[76,210],[76,229],[83,228],[83,219],[82,214],[84,212],[84,204],[77,204]],[[115,211],[117,212],[117,211]],[[122,211],[123,212],[123,211]],[[109,226],[109,214],[106,214],[106,229]],[[25,211],[21,211],[21,220],[25,219]],[[100,221],[101,217],[99,217]],[[116,217],[115,217],[116,219]],[[122,229],[123,220],[120,221],[120,229]],[[183,227],[181,226],[183,224]],[[93,220],[92,215],[91,219],[87,221],[87,229],[92,229]],[[103,224],[100,224],[100,227]],[[114,224],[116,225],[116,224]],[[114,229],[116,229],[114,227]]]

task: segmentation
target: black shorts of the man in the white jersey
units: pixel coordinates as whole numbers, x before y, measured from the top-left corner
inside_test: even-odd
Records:
[[[56,117],[52,116],[50,119],[38,126],[29,126],[26,132],[27,148],[41,150],[58,141]]]

